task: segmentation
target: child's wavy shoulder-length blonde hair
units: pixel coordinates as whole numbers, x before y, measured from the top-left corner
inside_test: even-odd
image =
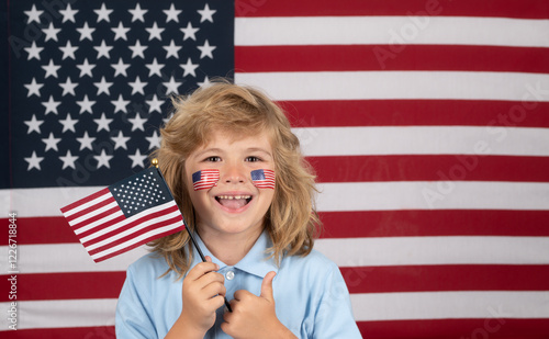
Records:
[[[152,157],[158,159],[187,227],[191,231],[195,228],[195,212],[186,184],[187,157],[208,144],[213,129],[221,128],[234,136],[267,133],[277,173],[274,197],[265,217],[273,244],[268,251],[279,264],[283,256],[309,255],[321,227],[314,206],[315,176],[283,111],[259,90],[228,81],[216,81],[188,97],[176,97],[172,104],[173,116],[160,129],[161,145]],[[166,259],[166,273],[173,270],[179,278],[190,269],[191,245],[187,231],[149,244],[153,251]]]

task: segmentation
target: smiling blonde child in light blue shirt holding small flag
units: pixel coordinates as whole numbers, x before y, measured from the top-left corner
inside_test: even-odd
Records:
[[[186,231],[154,241],[127,270],[116,337],[360,338],[313,250],[314,176],[280,108],[226,82],[173,104],[155,157],[208,262]]]

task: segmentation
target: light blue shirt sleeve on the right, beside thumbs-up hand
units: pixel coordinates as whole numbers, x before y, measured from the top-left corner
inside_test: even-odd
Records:
[[[349,291],[338,267],[330,262],[320,298],[315,320],[314,339],[362,338],[352,315]]]

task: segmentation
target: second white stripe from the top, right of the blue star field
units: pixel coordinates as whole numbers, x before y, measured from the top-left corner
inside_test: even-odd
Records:
[[[549,75],[546,74],[281,71],[240,72],[235,75],[235,79],[237,83],[265,90],[276,100],[463,99],[549,101]]]

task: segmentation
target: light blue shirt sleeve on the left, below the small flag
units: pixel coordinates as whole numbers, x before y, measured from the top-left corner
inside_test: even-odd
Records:
[[[117,339],[157,338],[150,315],[147,289],[138,289],[138,276],[130,265],[116,305],[115,330]]]

